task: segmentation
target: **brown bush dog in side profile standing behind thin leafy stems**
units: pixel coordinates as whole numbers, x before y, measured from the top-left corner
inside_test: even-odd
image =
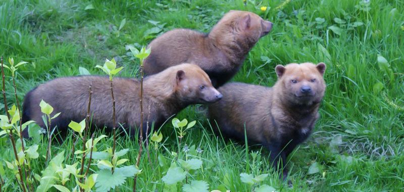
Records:
[[[52,127],[58,126],[59,131],[66,131],[71,120],[80,122],[85,118],[90,83],[92,124],[112,128],[112,99],[107,76],[62,77],[39,85],[25,96],[23,121],[34,120],[45,127],[39,107],[43,100],[54,107],[55,114],[61,112],[59,117],[52,120]],[[139,89],[139,80],[120,77],[113,80],[117,127],[118,123],[132,127],[131,135],[134,135],[134,127],[140,126]],[[159,128],[165,120],[188,105],[212,103],[221,98],[222,94],[212,86],[209,76],[197,65],[181,64],[145,77],[143,133],[146,121],[149,121],[150,127],[154,122],[155,128]],[[27,131],[24,136],[28,137]]]

